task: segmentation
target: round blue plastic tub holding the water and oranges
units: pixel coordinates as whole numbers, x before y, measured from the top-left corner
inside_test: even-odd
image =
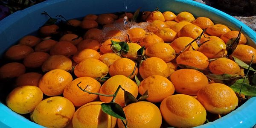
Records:
[[[127,0],[127,11],[134,12],[141,7],[143,11],[152,11],[160,7],[160,11],[179,13],[187,11],[195,17],[209,17],[215,23],[225,24],[231,29],[242,32],[247,37],[248,44],[256,47],[256,33],[239,20],[217,9],[192,0]],[[23,11],[15,12],[0,21],[0,55],[6,49],[25,35],[38,30],[45,21],[47,11],[49,15],[63,15],[67,19],[83,17],[87,14],[102,14],[124,11],[122,0],[48,0]],[[198,128],[251,128],[256,124],[256,97],[249,99],[244,105],[214,122],[201,125]],[[0,102],[0,128],[41,128],[42,126],[12,112]]]

